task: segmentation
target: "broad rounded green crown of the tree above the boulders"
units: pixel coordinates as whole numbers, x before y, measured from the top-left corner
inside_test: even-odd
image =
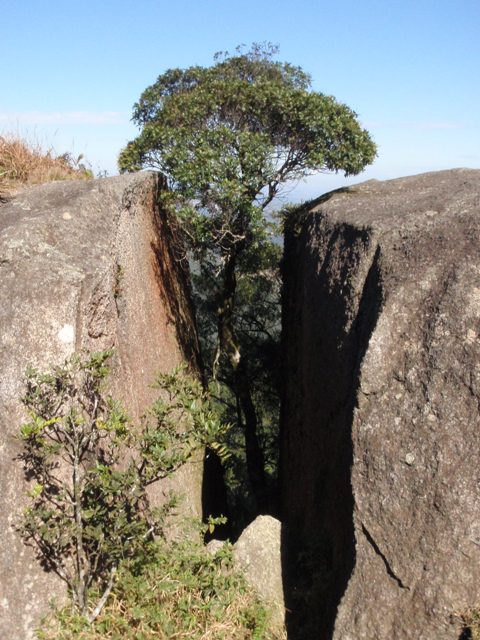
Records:
[[[159,169],[173,190],[229,222],[264,209],[286,181],[359,173],[375,145],[356,114],[275,53],[254,45],[159,76],[134,106],[142,130],[121,152],[121,171]]]

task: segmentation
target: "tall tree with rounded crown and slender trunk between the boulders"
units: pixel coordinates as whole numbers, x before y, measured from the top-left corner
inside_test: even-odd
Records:
[[[309,75],[275,61],[276,53],[272,45],[253,45],[217,54],[211,67],[166,71],[134,106],[141,132],[119,157],[121,171],[150,167],[167,176],[211,283],[217,322],[212,370],[230,370],[260,509],[265,471],[249,363],[238,338],[238,279],[265,248],[265,214],[287,182],[321,171],[357,174],[376,153],[356,114],[312,91]]]

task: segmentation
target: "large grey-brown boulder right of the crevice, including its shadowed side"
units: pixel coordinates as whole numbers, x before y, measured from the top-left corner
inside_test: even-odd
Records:
[[[290,220],[291,638],[458,640],[480,602],[479,258],[476,170],[366,182]]]

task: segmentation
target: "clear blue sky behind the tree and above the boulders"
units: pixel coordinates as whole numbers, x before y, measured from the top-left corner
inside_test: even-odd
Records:
[[[95,172],[137,130],[133,103],[171,67],[271,41],[313,88],[354,109],[379,155],[343,184],[480,168],[479,0],[0,0],[0,135],[20,133]]]

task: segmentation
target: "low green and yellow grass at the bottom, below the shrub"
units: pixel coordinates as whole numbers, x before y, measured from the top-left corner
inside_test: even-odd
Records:
[[[71,607],[53,610],[40,640],[284,640],[232,565],[189,542],[159,541],[141,564],[126,564],[100,616],[88,624]]]

